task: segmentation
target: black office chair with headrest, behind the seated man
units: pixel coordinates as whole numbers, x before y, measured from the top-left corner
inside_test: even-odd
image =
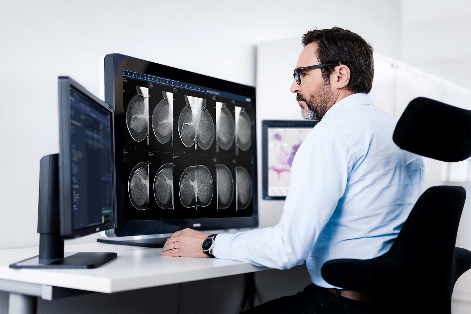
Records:
[[[415,98],[392,138],[412,153],[462,161],[471,155],[471,111]],[[465,198],[462,186],[430,187],[387,253],[327,261],[322,277],[336,287],[374,296],[389,313],[451,313],[455,282],[471,268],[471,252],[455,248]]]

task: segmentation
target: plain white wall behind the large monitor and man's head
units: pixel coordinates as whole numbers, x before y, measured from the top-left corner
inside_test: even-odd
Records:
[[[255,85],[255,44],[314,26],[350,28],[397,57],[399,14],[398,1],[374,0],[1,1],[0,249],[38,245],[39,160],[59,150],[57,76],[98,95],[99,57],[120,52]]]

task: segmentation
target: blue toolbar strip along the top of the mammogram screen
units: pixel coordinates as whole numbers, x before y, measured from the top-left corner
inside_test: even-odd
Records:
[[[227,92],[223,92],[223,91],[219,91],[215,89],[208,89],[200,85],[189,84],[182,81],[171,80],[171,79],[167,79],[167,78],[156,76],[156,75],[150,75],[150,74],[130,71],[126,69],[122,70],[122,77],[139,80],[139,81],[146,81],[146,82],[154,83],[154,84],[175,87],[179,89],[192,90],[192,91],[203,93],[203,94],[209,94],[209,95],[220,96],[220,97],[225,97],[225,98],[230,98],[230,99],[235,99],[235,100],[240,100],[240,101],[246,101],[249,103],[251,101],[249,97],[235,95],[232,93],[227,93]]]

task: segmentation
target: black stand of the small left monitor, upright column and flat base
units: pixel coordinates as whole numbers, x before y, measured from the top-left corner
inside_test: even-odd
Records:
[[[96,268],[116,258],[117,253],[109,252],[64,253],[59,231],[59,154],[42,157],[39,173],[39,255],[10,268]]]

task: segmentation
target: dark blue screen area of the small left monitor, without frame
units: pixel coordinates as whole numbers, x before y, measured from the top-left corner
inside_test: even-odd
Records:
[[[70,89],[73,228],[114,220],[111,114]]]

